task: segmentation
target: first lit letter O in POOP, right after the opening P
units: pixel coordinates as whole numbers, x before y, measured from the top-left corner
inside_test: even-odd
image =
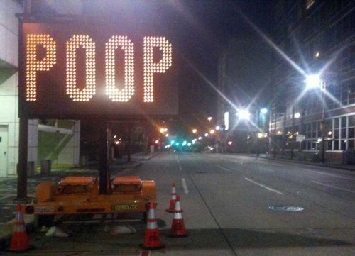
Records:
[[[77,87],[77,48],[85,49],[85,87]],[[73,101],[89,101],[96,94],[95,43],[89,35],[73,35],[67,42],[67,95]]]

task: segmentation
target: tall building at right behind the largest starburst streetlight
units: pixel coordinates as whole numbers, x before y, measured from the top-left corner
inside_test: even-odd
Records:
[[[342,152],[355,147],[355,2],[280,0],[273,7],[279,50],[273,65],[271,150],[342,160]],[[314,87],[306,87],[315,74]]]

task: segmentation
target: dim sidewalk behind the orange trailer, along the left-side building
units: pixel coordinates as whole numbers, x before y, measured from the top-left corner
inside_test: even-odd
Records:
[[[111,176],[119,176],[119,172],[124,169],[133,169],[142,165],[141,161],[150,160],[158,153],[142,155],[141,153],[131,155],[131,162],[126,161],[126,157],[114,160],[110,163]],[[41,182],[59,182],[60,179],[69,175],[77,176],[98,176],[97,163],[91,162],[87,167],[70,169],[52,169],[49,174],[35,174],[28,177],[27,196],[29,199],[35,198],[35,187]],[[13,222],[16,214],[17,177],[0,178],[0,252],[9,247],[13,233]],[[34,228],[34,216],[23,216],[28,231]]]

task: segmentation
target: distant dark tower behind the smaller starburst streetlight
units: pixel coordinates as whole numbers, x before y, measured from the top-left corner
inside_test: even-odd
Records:
[[[241,31],[229,40],[219,60],[217,123],[224,128],[222,148],[227,152],[265,152],[272,51],[260,35]]]

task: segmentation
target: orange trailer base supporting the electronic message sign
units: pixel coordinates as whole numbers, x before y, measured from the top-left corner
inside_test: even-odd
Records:
[[[115,177],[110,182],[109,193],[99,194],[97,177],[69,176],[58,184],[38,184],[36,198],[33,204],[25,207],[25,213],[35,214],[42,220],[72,214],[146,214],[150,202],[156,202],[153,180],[142,180],[136,176]]]

